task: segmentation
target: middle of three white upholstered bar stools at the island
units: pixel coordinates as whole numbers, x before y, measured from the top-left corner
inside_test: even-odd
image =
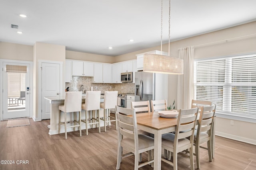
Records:
[[[88,135],[88,125],[97,125],[100,133],[100,91],[86,92],[85,102],[82,104],[82,110],[85,110],[85,119],[81,119],[86,125],[86,135]],[[91,123],[88,123],[88,111],[91,112]],[[92,111],[96,111],[96,118]],[[80,123],[82,127],[82,123]],[[80,129],[81,129],[80,127]]]

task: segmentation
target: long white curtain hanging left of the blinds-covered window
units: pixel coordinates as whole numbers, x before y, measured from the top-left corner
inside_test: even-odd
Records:
[[[194,98],[194,47],[181,48],[179,59],[184,61],[184,74],[178,75],[177,109],[189,109]]]

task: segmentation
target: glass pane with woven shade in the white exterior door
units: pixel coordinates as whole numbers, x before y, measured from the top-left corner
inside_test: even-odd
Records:
[[[6,65],[8,112],[26,110],[27,66]]]

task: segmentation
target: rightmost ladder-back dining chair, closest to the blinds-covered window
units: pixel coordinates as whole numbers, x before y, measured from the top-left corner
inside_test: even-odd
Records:
[[[196,165],[200,169],[200,152],[199,148],[208,150],[208,156],[210,162],[212,162],[212,127],[214,121],[216,105],[213,106],[203,106],[200,111],[200,118],[198,121],[198,129],[194,132],[194,145],[195,145],[195,155],[196,155]],[[207,142],[207,147],[200,146],[201,144]]]

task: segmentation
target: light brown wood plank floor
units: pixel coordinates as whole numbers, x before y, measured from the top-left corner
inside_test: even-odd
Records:
[[[89,129],[89,135],[82,131],[49,135],[49,120],[34,122],[29,126],[6,127],[0,122],[0,160],[14,160],[15,164],[2,165],[0,170],[115,170],[117,156],[117,131],[115,125],[107,132],[98,133]],[[102,127],[102,131],[104,128]],[[215,158],[209,162],[206,150],[201,149],[201,170],[256,170],[256,146],[216,136]],[[142,161],[147,159],[143,154]],[[29,164],[16,164],[17,160],[28,160]],[[195,159],[194,159],[195,160]],[[194,161],[195,162],[195,161]],[[122,160],[120,170],[132,170],[134,157]],[[195,164],[196,168],[196,164]],[[162,162],[162,170],[172,170]],[[178,156],[178,169],[189,170],[189,159]],[[153,170],[147,165],[140,170]]]

